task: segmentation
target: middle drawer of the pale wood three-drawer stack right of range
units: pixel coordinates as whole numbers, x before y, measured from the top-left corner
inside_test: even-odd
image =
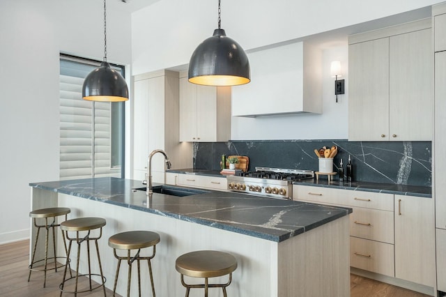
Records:
[[[353,207],[353,213],[350,214],[350,235],[393,244],[393,212]]]

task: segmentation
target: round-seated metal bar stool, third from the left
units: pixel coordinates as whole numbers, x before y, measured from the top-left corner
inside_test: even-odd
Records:
[[[127,260],[128,264],[128,277],[127,277],[127,296],[130,296],[130,282],[132,278],[132,263],[137,260],[138,267],[138,289],[139,296],[141,296],[141,270],[139,261],[147,260],[148,273],[151,276],[152,294],[155,297],[155,287],[153,287],[153,275],[151,259],[155,257],[156,244],[160,242],[160,235],[151,231],[127,231],[123,233],[115,234],[109,238],[109,246],[113,248],[114,257],[118,259],[118,266],[116,267],[116,277],[114,279],[113,296],[116,294],[116,284],[118,283],[119,268],[121,267],[121,261]],[[139,252],[141,248],[153,247],[153,253],[148,257],[141,257]],[[116,250],[127,250],[126,256],[118,256]],[[131,250],[138,250],[134,256],[130,256]]]

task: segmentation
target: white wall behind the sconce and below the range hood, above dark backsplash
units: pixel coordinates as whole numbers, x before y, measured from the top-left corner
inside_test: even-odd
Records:
[[[284,57],[286,59],[286,57]],[[345,94],[334,95],[334,78],[330,77],[331,61],[341,61]],[[245,118],[233,116],[231,139],[346,139],[348,138],[348,47],[323,51],[322,114],[289,114]],[[340,79],[340,78],[339,78]],[[280,98],[271,98],[280,100]]]

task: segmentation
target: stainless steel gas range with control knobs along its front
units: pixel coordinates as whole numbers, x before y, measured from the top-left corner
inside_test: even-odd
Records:
[[[314,178],[310,170],[256,167],[255,172],[227,176],[228,190],[260,196],[292,199],[293,181]]]

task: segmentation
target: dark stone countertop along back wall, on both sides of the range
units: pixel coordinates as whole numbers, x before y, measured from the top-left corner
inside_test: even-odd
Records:
[[[169,172],[179,173],[179,174],[197,174],[206,176],[226,176],[220,174],[220,171],[216,170],[206,170],[206,169],[171,169]],[[323,188],[336,188],[345,190],[357,190],[366,192],[380,192],[387,194],[397,194],[397,195],[408,195],[416,197],[432,197],[432,188],[424,187],[418,185],[397,185],[392,183],[369,183],[367,181],[357,181],[357,182],[339,182],[339,181],[328,181],[326,176],[319,176],[319,180],[316,178],[309,178],[302,181],[295,181],[295,185],[313,185],[315,187]]]

